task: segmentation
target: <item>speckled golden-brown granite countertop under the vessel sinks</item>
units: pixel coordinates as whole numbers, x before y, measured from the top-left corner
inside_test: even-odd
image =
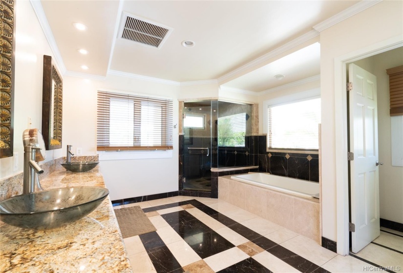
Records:
[[[56,171],[41,185],[44,190],[105,187],[98,169]],[[0,222],[0,272],[132,272],[109,196],[81,220],[52,230],[25,230]]]

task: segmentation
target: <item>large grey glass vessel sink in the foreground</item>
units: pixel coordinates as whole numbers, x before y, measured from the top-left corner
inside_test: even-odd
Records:
[[[47,230],[77,221],[109,194],[103,187],[59,188],[0,201],[0,220],[19,228]]]

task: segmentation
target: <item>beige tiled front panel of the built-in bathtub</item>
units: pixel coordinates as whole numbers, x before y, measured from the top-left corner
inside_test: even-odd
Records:
[[[218,177],[218,198],[320,242],[319,199]]]

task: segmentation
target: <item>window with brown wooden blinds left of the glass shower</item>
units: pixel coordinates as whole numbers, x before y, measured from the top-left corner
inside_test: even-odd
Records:
[[[170,150],[173,101],[98,91],[97,150]]]

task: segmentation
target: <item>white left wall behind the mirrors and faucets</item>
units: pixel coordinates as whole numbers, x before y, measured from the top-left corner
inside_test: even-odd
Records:
[[[28,128],[42,130],[43,55],[52,56],[49,43],[29,1],[16,3],[15,88],[14,88],[14,153],[18,153],[18,169],[13,171],[13,157],[0,159],[0,179],[21,173],[24,148],[22,132]],[[57,65],[57,63],[56,63]],[[64,140],[63,140],[63,143]],[[61,149],[46,152],[46,160],[61,157]]]

